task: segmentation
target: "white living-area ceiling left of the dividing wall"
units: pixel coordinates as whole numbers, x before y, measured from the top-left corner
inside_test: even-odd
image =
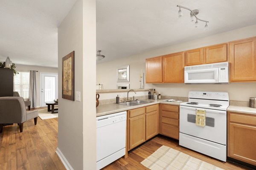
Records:
[[[0,62],[58,67],[58,25],[76,0],[0,0]]]

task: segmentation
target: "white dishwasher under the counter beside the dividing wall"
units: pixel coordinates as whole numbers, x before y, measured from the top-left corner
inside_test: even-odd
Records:
[[[96,117],[97,170],[125,155],[126,111]]]

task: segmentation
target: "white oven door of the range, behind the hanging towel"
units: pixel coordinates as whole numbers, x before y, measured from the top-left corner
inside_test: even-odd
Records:
[[[206,125],[201,127],[195,124],[196,109],[180,106],[180,133],[226,145],[227,112],[198,108],[206,111]]]

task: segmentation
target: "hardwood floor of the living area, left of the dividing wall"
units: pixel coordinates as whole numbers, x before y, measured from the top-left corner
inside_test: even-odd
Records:
[[[66,170],[55,150],[58,145],[58,118],[34,119],[3,127],[0,133],[0,170]]]

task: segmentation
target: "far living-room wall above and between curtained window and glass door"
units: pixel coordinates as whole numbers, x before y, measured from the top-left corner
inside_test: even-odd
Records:
[[[32,66],[32,65],[16,65],[16,71],[30,71],[36,70],[35,77],[36,77],[36,92],[37,92],[37,103],[35,108],[40,107],[40,73],[58,73],[58,68],[51,68],[51,67],[39,67],[39,66]],[[57,97],[56,97],[57,98]]]

